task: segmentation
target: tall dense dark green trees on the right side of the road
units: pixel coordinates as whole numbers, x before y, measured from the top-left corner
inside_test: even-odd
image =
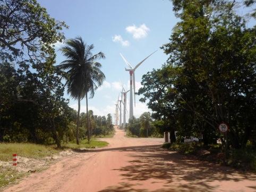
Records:
[[[162,47],[169,58],[142,77],[141,101],[149,100],[172,141],[177,130],[203,136],[205,145],[218,138],[224,144],[217,127],[225,122],[228,146],[255,145],[255,26],[246,27],[235,1],[172,2],[180,22]]]

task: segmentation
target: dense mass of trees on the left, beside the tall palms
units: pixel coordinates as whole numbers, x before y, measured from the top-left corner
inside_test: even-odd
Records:
[[[77,111],[61,82],[67,76],[54,66],[54,43],[64,40],[66,27],[36,0],[0,0],[0,142],[61,147],[75,138]],[[110,120],[101,126],[105,133],[113,130]]]

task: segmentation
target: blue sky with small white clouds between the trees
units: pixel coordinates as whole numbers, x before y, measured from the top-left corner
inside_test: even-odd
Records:
[[[136,90],[140,87],[143,74],[166,62],[167,56],[159,47],[168,42],[177,22],[169,0],[40,0],[39,3],[47,8],[50,16],[69,25],[69,29],[63,31],[67,39],[81,36],[88,44],[95,45],[94,53],[105,53],[106,59],[100,60],[100,63],[103,65],[106,82],[96,91],[95,97],[89,100],[89,109],[95,115],[106,116],[110,113],[114,118],[114,104],[121,91],[120,81],[127,90],[130,77],[124,71],[127,66],[120,53],[135,66],[158,49],[136,69]],[[58,46],[61,44],[58,43]],[[64,59],[57,51],[57,64]],[[67,94],[65,97],[70,98]],[[127,95],[127,101],[129,97]],[[70,98],[70,106],[77,109],[77,102]],[[86,101],[83,99],[81,111],[85,110]],[[137,96],[134,116],[139,117],[145,111],[148,111],[146,103],[139,102]]]

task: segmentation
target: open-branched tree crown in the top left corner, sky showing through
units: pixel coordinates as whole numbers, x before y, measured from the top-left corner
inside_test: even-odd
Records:
[[[62,41],[65,22],[50,18],[36,0],[0,1],[0,58],[37,65],[54,60],[53,44]]]

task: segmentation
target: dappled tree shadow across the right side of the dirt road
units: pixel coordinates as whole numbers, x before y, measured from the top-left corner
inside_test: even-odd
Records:
[[[148,179],[157,179],[163,183],[160,191],[215,191],[217,184],[210,185],[211,181],[242,181],[244,179],[256,181],[253,173],[243,173],[229,167],[224,167],[209,162],[203,162],[187,158],[177,152],[161,149],[159,145],[119,147],[114,149],[102,149],[129,151],[133,160],[130,164],[116,169],[120,171],[124,181],[120,186],[111,186],[102,191],[138,191],[147,192],[146,189],[135,189],[129,181],[142,182]],[[100,150],[92,150],[94,152]],[[177,183],[177,181],[180,181]],[[175,182],[175,185],[173,185]],[[129,188],[130,187],[130,188]],[[135,187],[135,188],[132,188]],[[248,186],[254,188],[254,186]],[[167,188],[167,189],[166,189]]]

